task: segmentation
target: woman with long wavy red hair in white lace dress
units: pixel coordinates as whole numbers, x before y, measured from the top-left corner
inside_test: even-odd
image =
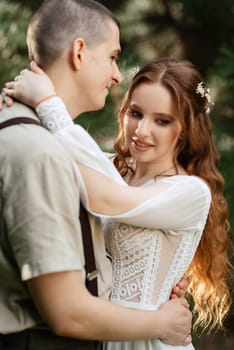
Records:
[[[35,74],[27,72],[17,89],[20,81],[28,84],[27,76],[37,81]],[[13,93],[6,92],[16,98],[23,93],[23,101],[31,105],[37,102],[33,85],[28,96],[25,90],[19,95],[15,85],[8,85]],[[51,85],[44,91],[45,96],[54,94]],[[112,301],[158,308],[185,274],[194,299],[195,326],[212,329],[222,326],[230,296],[229,227],[211,137],[210,103],[209,91],[190,62],[164,59],[143,67],[133,78],[119,114],[114,164],[121,177],[86,132],[72,124],[59,98],[37,103],[36,110],[75,153],[86,208],[103,214],[113,259]],[[107,343],[107,348],[174,347],[152,340]],[[193,347],[176,347],[180,348]]]

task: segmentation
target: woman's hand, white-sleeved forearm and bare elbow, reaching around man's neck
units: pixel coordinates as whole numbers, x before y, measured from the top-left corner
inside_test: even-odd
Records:
[[[54,97],[55,90],[49,77],[34,62],[31,69],[23,70],[16,81],[6,83],[5,91],[35,107],[43,125],[69,148],[82,173],[85,206],[99,214],[115,215],[152,198],[151,190],[135,191],[126,185],[90,135],[73,124],[62,100]]]

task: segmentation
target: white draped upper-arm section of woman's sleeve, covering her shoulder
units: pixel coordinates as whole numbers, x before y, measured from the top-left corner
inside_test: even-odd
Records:
[[[164,182],[169,184],[171,180]],[[175,234],[183,230],[200,231],[204,229],[210,203],[208,186],[198,178],[183,176],[182,181],[165,187],[138,207],[114,218],[126,224],[170,230]]]

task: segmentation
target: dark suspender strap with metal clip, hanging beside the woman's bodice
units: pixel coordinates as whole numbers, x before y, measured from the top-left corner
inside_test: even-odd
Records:
[[[97,269],[95,265],[95,256],[93,249],[92,233],[89,223],[87,211],[80,202],[80,224],[83,237],[84,256],[85,256],[85,271],[86,271],[86,287],[94,296],[98,295],[97,285]]]

